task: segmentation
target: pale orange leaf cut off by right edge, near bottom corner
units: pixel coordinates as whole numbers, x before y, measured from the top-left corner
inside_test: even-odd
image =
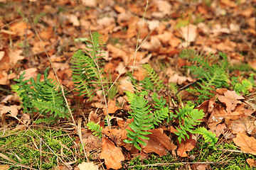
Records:
[[[238,132],[237,136],[233,139],[235,145],[240,147],[243,152],[256,155],[256,140],[254,137]]]

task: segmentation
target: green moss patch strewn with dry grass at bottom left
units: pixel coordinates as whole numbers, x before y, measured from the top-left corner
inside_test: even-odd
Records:
[[[73,160],[73,138],[59,130],[37,129],[33,130],[41,137],[46,144],[53,149],[58,157],[66,162]],[[31,131],[10,132],[0,139],[1,153],[26,166],[35,169],[53,169],[57,166],[57,157],[50,149],[41,143],[41,140]],[[63,147],[65,146],[65,147]],[[65,155],[63,157],[63,155]],[[0,161],[8,162],[8,160],[0,157]],[[58,160],[59,162],[59,160]],[[9,162],[10,164],[12,162]],[[15,169],[15,167],[11,168]]]

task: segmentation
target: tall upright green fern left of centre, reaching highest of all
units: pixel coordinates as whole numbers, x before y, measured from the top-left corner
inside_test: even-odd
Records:
[[[104,72],[101,66],[102,47],[104,47],[101,35],[97,32],[92,33],[92,38],[87,42],[87,49],[78,50],[72,57],[73,82],[78,95],[85,95],[92,100],[96,88],[102,88],[100,82],[106,83],[101,77]]]

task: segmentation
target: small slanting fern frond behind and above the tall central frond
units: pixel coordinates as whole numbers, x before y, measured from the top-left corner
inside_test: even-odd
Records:
[[[157,90],[164,89],[164,84],[162,84],[162,80],[159,80],[159,76],[156,74],[154,69],[150,66],[150,64],[143,64],[142,67],[146,70],[146,75],[150,78],[150,81],[153,83],[154,88]]]

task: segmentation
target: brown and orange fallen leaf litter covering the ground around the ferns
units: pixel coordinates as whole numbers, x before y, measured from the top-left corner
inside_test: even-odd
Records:
[[[212,1],[210,4],[206,4],[206,2],[188,4],[188,2],[180,1],[152,1],[149,3],[144,20],[142,20],[144,1],[137,1],[133,4],[122,0],[110,0],[102,3],[83,0],[82,5],[90,7],[85,11],[85,15],[80,13],[79,8],[78,11],[74,11],[73,8],[79,5],[68,0],[54,1],[50,4],[36,0],[31,1],[36,8],[24,1],[15,1],[10,6],[5,6],[6,1],[3,3],[4,9],[1,12],[3,18],[0,20],[0,84],[1,89],[6,89],[6,91],[1,91],[1,104],[4,107],[1,107],[0,110],[1,126],[8,130],[11,128],[6,126],[6,120],[8,123],[17,124],[17,122],[7,116],[7,111],[20,116],[19,118],[24,123],[31,123],[29,120],[31,116],[23,113],[20,106],[16,105],[17,101],[14,99],[14,95],[11,94],[13,97],[6,98],[7,95],[10,95],[10,86],[14,84],[13,80],[23,71],[26,71],[26,79],[36,78],[36,74],[42,73],[49,65],[41,42],[33,31],[33,26],[26,20],[27,16],[31,16],[31,14],[34,16],[33,24],[38,29],[39,37],[43,40],[48,55],[54,61],[53,65],[58,77],[68,89],[73,89],[73,83],[70,64],[66,61],[70,60],[75,50],[85,48],[84,42],[75,42],[74,38],[88,37],[86,18],[91,30],[102,33],[107,44],[105,50],[108,57],[105,59],[109,67],[106,72],[113,80],[121,74],[118,81],[118,95],[122,97],[123,102],[126,100],[124,91],[133,90],[132,84],[127,81],[124,74],[134,69],[134,77],[139,80],[143,79],[144,74],[140,66],[147,62],[151,63],[160,75],[169,77],[169,82],[180,86],[191,83],[193,78],[183,70],[183,66],[187,66],[188,63],[178,58],[178,53],[186,47],[214,54],[222,51],[229,56],[231,64],[245,62],[255,69],[256,53],[253,50],[255,49],[253,39],[255,36],[255,24],[253,24],[255,13],[254,8],[247,8],[247,6],[255,4],[255,1],[240,1],[240,5],[229,0]],[[18,9],[18,6],[21,8]],[[184,6],[189,6],[189,8]],[[8,12],[17,11],[17,9],[21,13]],[[231,13],[230,18],[228,18],[228,13]],[[161,19],[167,14],[170,16],[161,22]],[[191,18],[189,18],[190,15]],[[38,16],[38,21],[35,16]],[[236,16],[240,16],[242,22]],[[133,56],[132,60],[129,60],[137,45],[139,31],[141,31],[139,42],[142,42],[151,30],[153,32],[142,44],[137,57]],[[127,67],[122,72],[122,68],[127,64],[132,65],[134,60],[136,61],[134,67]],[[157,64],[163,62],[167,64]],[[107,64],[105,68],[107,68]],[[243,74],[241,70],[230,73],[236,77],[240,77],[241,74]],[[50,77],[54,77],[52,73],[50,75]],[[165,79],[164,76],[161,77]],[[6,99],[4,100],[4,98]],[[84,116],[85,121],[89,119],[95,123],[100,122],[104,128],[102,115],[106,115],[106,108],[102,106],[100,112],[95,112],[95,106],[100,106],[101,98],[100,95],[93,98],[93,102],[87,103],[86,109],[82,111],[77,109],[74,114],[75,118],[78,120]],[[183,98],[186,99],[188,96],[183,95]],[[215,132],[217,137],[233,140],[243,152],[255,154],[255,110],[245,102],[250,98],[238,96],[234,91],[228,89],[216,89],[215,96],[204,101],[198,108],[203,109],[205,113],[203,123],[207,123],[208,129]],[[75,97],[74,92],[68,101],[70,103],[85,103],[86,99]],[[108,106],[109,113],[112,114],[116,125],[111,129],[104,128],[102,130],[105,135],[102,140],[87,130],[82,135],[82,141],[87,145],[88,153],[95,149],[102,149],[96,157],[105,160],[107,169],[121,168],[124,159],[131,159],[134,155],[147,158],[149,153],[164,156],[171,152],[179,157],[188,157],[188,152],[196,147],[196,137],[192,137],[191,134],[189,140],[182,140],[181,143],[176,142],[174,138],[170,139],[169,134],[174,134],[175,128],[170,132],[169,128],[171,127],[169,127],[151,130],[152,134],[148,135],[149,140],[144,140],[147,145],[142,146],[142,152],[132,148],[131,145],[123,142],[127,138],[125,129],[129,129],[128,123],[132,121],[124,118],[127,117],[129,105],[124,102],[122,105],[116,106],[117,101],[118,99],[111,100]],[[74,108],[80,107],[75,104],[73,106],[75,106]],[[86,129],[86,127],[84,128]],[[122,150],[124,148],[129,150],[125,156]],[[247,162],[250,166],[255,166],[255,159],[247,159]],[[78,168],[82,166],[90,165],[80,164]],[[201,166],[202,168],[197,166],[196,169],[206,169],[205,165]]]

